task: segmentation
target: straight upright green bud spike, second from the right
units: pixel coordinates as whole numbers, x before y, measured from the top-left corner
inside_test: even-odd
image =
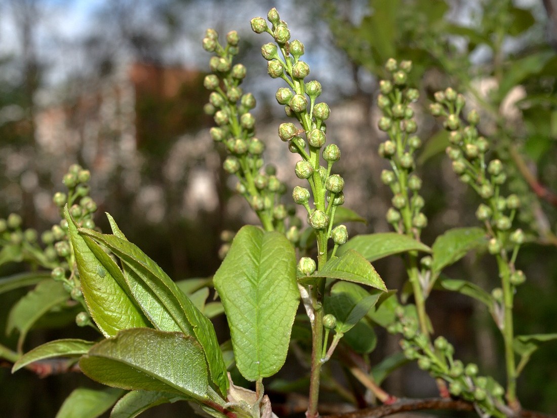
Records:
[[[378,106],[383,116],[378,127],[388,139],[379,145],[379,155],[387,159],[392,170],[385,169],[381,181],[393,192],[392,205],[387,211],[387,221],[398,232],[419,232],[427,226],[427,217],[421,211],[423,197],[419,195],[422,180],[414,173],[414,154],[422,146],[415,134],[416,119],[412,103],[418,100],[419,91],[408,86],[411,61],[397,62],[389,59],[385,70],[389,79],[379,82]]]

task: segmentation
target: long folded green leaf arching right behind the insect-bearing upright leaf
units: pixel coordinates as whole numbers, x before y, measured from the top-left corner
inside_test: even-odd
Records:
[[[226,394],[226,366],[211,321],[138,246],[125,238],[89,229],[80,229],[79,232],[108,247],[119,257],[126,266],[125,280],[131,293],[155,327],[165,331],[175,331],[179,327],[184,334],[197,338],[207,358],[211,380],[222,395]]]

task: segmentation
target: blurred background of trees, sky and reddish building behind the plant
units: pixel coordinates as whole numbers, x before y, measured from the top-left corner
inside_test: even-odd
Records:
[[[269,40],[249,23],[271,7],[304,42],[310,78],[321,82],[331,107],[328,140],[343,153],[335,169],[346,180],[346,205],[367,220],[352,233],[389,230],[390,191],[379,181],[386,163],[377,155],[384,137],[375,128],[374,108],[389,57],[413,61],[411,83],[422,95],[416,112],[423,115],[418,172],[429,218],[424,241],[431,245],[450,227],[477,224],[478,201],[452,173],[443,152],[447,138],[426,114],[435,91],[453,86],[466,94],[480,111],[494,156],[508,164],[510,192],[526,203],[519,222],[531,243],[519,264],[529,281],[516,299],[517,333],[555,332],[554,0],[0,0],[0,217],[18,212],[26,227],[50,229],[60,220],[52,194],[63,189],[70,164],[79,163],[92,172],[97,225],[109,230],[102,212],[111,213],[130,241],[176,280],[212,275],[221,232],[255,218],[232,192],[234,182],[222,170],[224,151],[208,135],[213,121],[202,107],[209,54],[201,46],[207,27],[240,33],[238,62],[248,67],[243,89],[258,102],[256,132],[267,144],[266,162],[291,187],[298,184],[294,156],[276,133],[285,119],[274,98],[282,84],[269,79],[260,54]],[[291,203],[290,193],[286,198]],[[400,288],[398,260],[376,267],[389,288]],[[467,257],[449,273],[491,289],[497,282],[492,268]],[[0,276],[19,270],[3,265]],[[21,295],[1,295],[0,328]],[[476,359],[501,378],[499,335],[485,309],[446,293],[430,302],[434,328],[457,344],[460,357]],[[38,333],[27,348],[55,338],[52,333]],[[9,346],[13,337],[3,334],[0,341]],[[396,339],[384,336],[373,356],[396,347]],[[556,348],[540,349],[522,376],[525,407],[557,412]],[[2,367],[0,411],[7,412],[0,415],[55,416],[77,381],[85,379],[11,376]],[[408,396],[434,392],[433,383],[416,384],[422,381],[411,369],[387,385]]]

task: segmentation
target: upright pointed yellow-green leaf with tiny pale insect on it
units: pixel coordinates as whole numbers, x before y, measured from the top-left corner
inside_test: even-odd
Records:
[[[124,276],[113,259],[96,242],[84,239],[67,206],[64,216],[74,247],[81,291],[91,318],[105,337],[112,337],[121,329],[145,327],[143,314],[128,293]]]

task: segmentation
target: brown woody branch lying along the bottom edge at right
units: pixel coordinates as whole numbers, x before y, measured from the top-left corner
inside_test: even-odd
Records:
[[[380,418],[398,414],[399,412],[419,411],[419,410],[452,410],[452,411],[473,411],[474,405],[471,402],[460,399],[447,398],[424,398],[424,399],[399,399],[391,405],[381,405],[372,408],[361,409],[358,411],[347,412],[345,414],[326,415],[322,418]],[[557,418],[555,415],[540,414],[539,412],[520,411],[515,418]]]

